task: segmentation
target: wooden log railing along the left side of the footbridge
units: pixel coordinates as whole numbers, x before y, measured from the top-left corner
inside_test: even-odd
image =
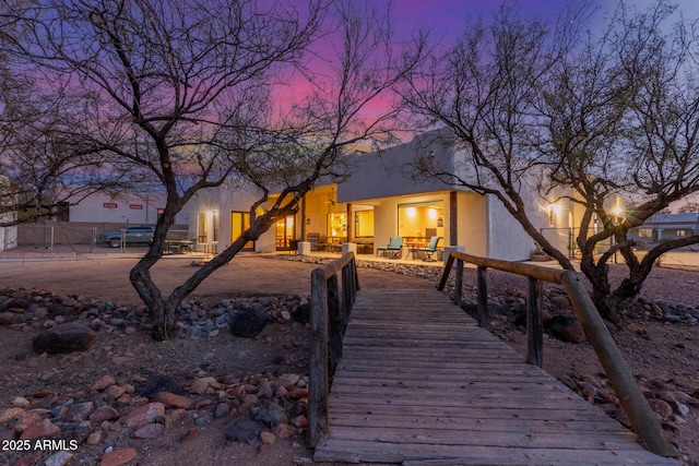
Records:
[[[337,275],[342,278],[339,286]],[[311,344],[308,377],[308,443],[316,446],[328,429],[328,394],[342,356],[352,306],[359,290],[353,252],[316,268],[310,278]]]

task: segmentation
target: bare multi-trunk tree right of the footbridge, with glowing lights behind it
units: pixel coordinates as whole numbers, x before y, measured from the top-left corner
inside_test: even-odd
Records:
[[[664,2],[641,13],[621,4],[606,28],[585,34],[587,7],[565,10],[556,24],[503,8],[490,24],[465,31],[404,91],[415,115],[448,127],[467,150],[471,176],[425,160],[417,171],[495,195],[570,270],[567,251],[542,232],[523,193],[536,190],[542,199],[578,205],[581,268],[600,312],[616,323],[662,253],[699,241],[663,243],[639,261],[627,236],[699,190],[697,41],[694,23],[667,25],[674,11]],[[611,212],[613,195],[636,207]],[[614,246],[596,255],[609,238]],[[612,289],[608,262],[617,252],[629,275]]]

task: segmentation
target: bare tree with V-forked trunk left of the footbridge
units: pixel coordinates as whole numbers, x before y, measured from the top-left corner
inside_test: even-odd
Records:
[[[364,110],[420,56],[419,47],[391,55],[388,16],[352,1],[46,1],[21,17],[35,40],[14,52],[68,93],[91,96],[91,141],[166,191],[153,243],[130,276],[156,339],[173,335],[177,307],[206,276],[296,212],[320,177],[343,175],[336,163],[347,147],[391,139],[393,110],[371,119]],[[335,32],[331,57],[318,39]],[[318,59],[321,72],[310,67]],[[309,92],[282,110],[274,96],[289,77]],[[199,190],[238,177],[261,193],[250,228],[163,296],[150,270],[175,215]],[[271,193],[280,193],[273,202]]]

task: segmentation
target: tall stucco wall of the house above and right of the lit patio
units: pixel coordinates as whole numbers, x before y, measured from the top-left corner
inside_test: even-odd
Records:
[[[471,168],[464,154],[445,143],[443,135],[428,133],[410,143],[380,153],[355,156],[351,178],[337,187],[342,202],[372,204],[375,208],[375,244],[389,242],[399,230],[398,206],[428,200],[441,201],[445,207],[443,240],[440,247],[452,244],[449,224],[450,195],[457,192],[457,246],[469,253],[503,260],[529,260],[534,242],[524,229],[490,195],[475,194],[465,188],[452,187],[434,178],[413,178],[408,164],[426,157],[433,166],[446,172],[458,172],[467,179]],[[525,193],[533,203],[531,193]],[[533,212],[536,207],[531,205]]]

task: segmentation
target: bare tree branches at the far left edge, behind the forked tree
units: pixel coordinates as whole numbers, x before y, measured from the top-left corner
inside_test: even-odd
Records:
[[[84,122],[84,116],[75,118],[79,103],[60,87],[42,88],[3,52],[17,23],[7,13],[0,33],[0,226],[56,215],[96,191],[142,186],[139,171],[119,169],[104,147],[78,136]]]

